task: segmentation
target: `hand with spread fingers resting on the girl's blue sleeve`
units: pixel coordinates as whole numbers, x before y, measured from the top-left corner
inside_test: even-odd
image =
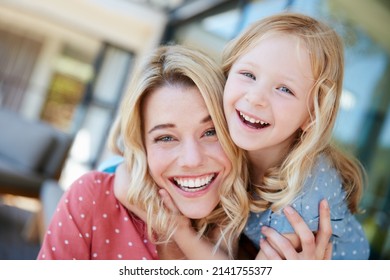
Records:
[[[267,240],[260,241],[261,251],[256,259],[288,260],[329,260],[332,256],[332,235],[330,211],[326,200],[320,203],[320,224],[316,235],[308,228],[301,216],[292,208],[286,207],[284,213],[299,237],[301,251],[297,251],[290,240],[272,228],[263,227]],[[271,246],[272,244],[272,246]]]

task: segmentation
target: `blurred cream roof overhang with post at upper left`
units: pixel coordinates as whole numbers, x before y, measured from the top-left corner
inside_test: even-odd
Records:
[[[53,63],[65,44],[93,61],[102,42],[136,57],[159,44],[167,17],[162,12],[123,0],[3,0],[0,28],[42,42],[21,113],[39,118]]]

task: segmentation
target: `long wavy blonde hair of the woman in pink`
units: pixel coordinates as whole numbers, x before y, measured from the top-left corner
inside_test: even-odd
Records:
[[[249,213],[247,171],[242,152],[231,141],[222,109],[225,78],[220,67],[199,51],[182,46],[161,46],[144,62],[124,96],[120,113],[110,137],[110,148],[122,155],[131,182],[128,200],[147,213],[147,228],[156,242],[166,242],[175,230],[174,217],[164,207],[158,186],[149,174],[147,151],[143,142],[141,104],[149,93],[165,85],[196,87],[202,95],[215,125],[218,139],[232,164],[232,170],[220,187],[221,201],[208,217],[194,220],[199,236],[210,237],[221,228],[215,249],[223,241],[230,250],[244,228]],[[172,100],[172,102],[175,102]],[[153,235],[153,236],[152,236]]]

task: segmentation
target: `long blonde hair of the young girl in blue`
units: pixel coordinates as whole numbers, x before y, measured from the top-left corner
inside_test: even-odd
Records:
[[[364,169],[356,159],[331,143],[344,75],[342,41],[332,28],[312,17],[289,12],[276,14],[254,22],[226,46],[222,58],[225,77],[241,55],[270,34],[295,36],[309,53],[314,77],[307,104],[310,124],[303,131],[297,131],[290,153],[279,166],[266,171],[262,186],[254,188],[257,195],[252,209],[278,210],[291,203],[301,191],[316,158],[325,154],[342,177],[348,205],[354,213],[363,191]]]

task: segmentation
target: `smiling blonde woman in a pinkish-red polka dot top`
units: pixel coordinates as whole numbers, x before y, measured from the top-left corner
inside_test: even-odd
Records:
[[[249,202],[243,156],[223,115],[224,82],[220,67],[200,52],[154,51],[113,132],[123,140],[117,149],[128,167],[128,198],[144,220],[118,201],[115,175],[91,171],[63,195],[38,259],[182,258],[169,242],[177,219],[162,205],[161,190],[198,236],[232,257]]]

